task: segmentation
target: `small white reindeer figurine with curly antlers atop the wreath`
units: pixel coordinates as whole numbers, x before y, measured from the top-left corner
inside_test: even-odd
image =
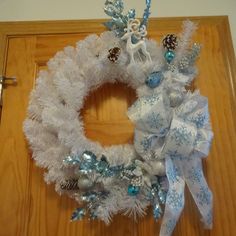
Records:
[[[127,39],[126,50],[130,55],[130,63],[135,63],[134,53],[138,52],[140,49],[143,54],[146,56],[148,61],[152,61],[151,56],[146,48],[146,43],[144,41],[144,37],[147,35],[146,26],[142,25],[140,27],[140,21],[138,19],[129,20],[127,28],[125,29],[126,33],[121,38],[122,40]],[[135,44],[132,43],[132,35],[135,35],[139,41]]]

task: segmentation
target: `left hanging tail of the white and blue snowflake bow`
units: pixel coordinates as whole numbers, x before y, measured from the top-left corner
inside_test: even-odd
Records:
[[[170,157],[166,158],[166,175],[169,181],[169,190],[166,198],[165,212],[162,220],[160,236],[170,236],[184,207],[185,181],[181,169]]]

